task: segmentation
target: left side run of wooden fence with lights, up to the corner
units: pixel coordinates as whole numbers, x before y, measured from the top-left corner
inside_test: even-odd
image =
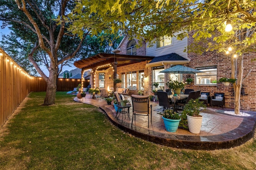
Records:
[[[0,48],[0,127],[30,93],[29,76]]]

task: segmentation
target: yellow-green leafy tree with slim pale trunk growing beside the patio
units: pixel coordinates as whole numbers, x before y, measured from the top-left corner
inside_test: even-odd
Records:
[[[90,1],[80,0],[74,13],[66,21],[72,21],[70,31],[82,35],[86,26],[83,9],[90,6],[90,17],[104,24],[107,16],[111,30],[124,29],[137,39],[154,42],[164,35],[182,39],[194,31],[196,46],[188,47],[188,52],[202,53],[216,51],[223,53],[232,46],[238,59],[239,73],[236,74],[237,59],[231,59],[234,85],[235,112],[239,114],[240,89],[243,78],[243,54],[254,53],[256,45],[256,2],[253,0],[140,0],[140,1]],[[102,6],[104,8],[102,9]],[[87,12],[87,11],[86,11]],[[103,17],[104,16],[104,17]],[[233,30],[225,32],[224,21],[230,20]],[[94,30],[97,31],[97,30]],[[178,34],[177,34],[178,33]],[[210,41],[209,41],[210,40]],[[203,46],[201,46],[203,43]]]

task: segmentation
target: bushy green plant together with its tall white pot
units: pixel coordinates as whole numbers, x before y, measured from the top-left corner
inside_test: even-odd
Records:
[[[200,115],[200,111],[206,108],[204,102],[200,102],[199,98],[196,100],[190,100],[182,111],[182,115],[186,115],[188,121],[188,129],[191,133],[198,134],[202,126],[203,116]]]

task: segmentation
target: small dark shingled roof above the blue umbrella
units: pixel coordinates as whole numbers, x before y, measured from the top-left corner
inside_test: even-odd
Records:
[[[162,55],[159,57],[155,57],[150,61],[148,64],[146,64],[146,67],[148,66],[159,66],[164,64],[186,64],[190,61],[176,53],[171,53],[167,55]]]

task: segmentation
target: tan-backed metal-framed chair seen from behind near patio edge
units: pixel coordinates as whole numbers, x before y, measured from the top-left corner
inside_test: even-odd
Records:
[[[134,121],[136,120],[136,115],[148,116],[148,127],[149,127],[149,115],[152,122],[152,105],[149,106],[149,96],[132,95],[132,123],[133,116]]]

